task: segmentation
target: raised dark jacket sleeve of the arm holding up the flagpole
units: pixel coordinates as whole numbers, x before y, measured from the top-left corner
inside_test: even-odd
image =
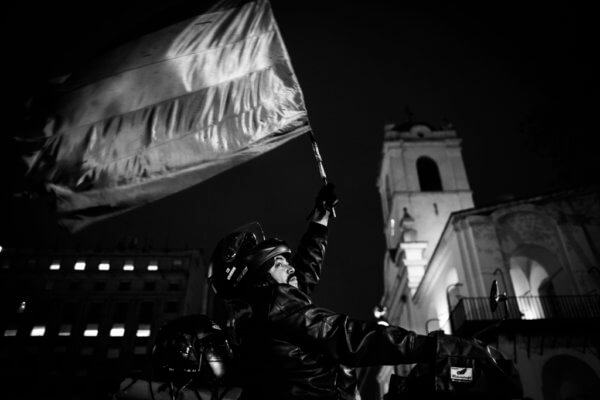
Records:
[[[319,283],[321,266],[327,248],[327,227],[310,222],[292,258],[300,289],[311,294]]]

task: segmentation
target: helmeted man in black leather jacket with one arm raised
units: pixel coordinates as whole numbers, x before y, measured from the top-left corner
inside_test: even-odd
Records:
[[[295,253],[283,240],[244,230],[213,252],[213,289],[229,304],[248,305],[235,318],[240,399],[356,399],[353,368],[412,364],[435,353],[428,336],[312,303],[337,204],[334,185],[323,186]]]

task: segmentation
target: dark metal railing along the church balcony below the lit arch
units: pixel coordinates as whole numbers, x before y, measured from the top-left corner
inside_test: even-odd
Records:
[[[507,320],[600,320],[600,295],[508,297]],[[492,312],[487,297],[463,297],[450,314],[454,330],[468,322],[497,321],[505,309]]]

